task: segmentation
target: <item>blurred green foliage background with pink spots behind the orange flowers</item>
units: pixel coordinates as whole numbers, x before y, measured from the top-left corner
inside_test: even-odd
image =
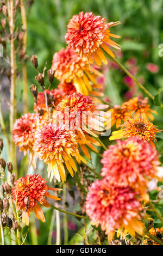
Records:
[[[105,17],[106,21],[120,21],[121,25],[111,28],[111,32],[121,35],[117,39],[118,44],[122,46],[122,52],[114,51],[117,58],[123,63],[130,72],[151,92],[156,94],[159,88],[163,87],[163,56],[159,56],[160,44],[163,44],[163,1],[162,0],[35,0],[32,7],[27,11],[27,54],[31,57],[36,54],[39,60],[39,70],[43,69],[47,62],[47,68],[51,68],[54,52],[59,51],[66,46],[64,36],[66,34],[66,25],[74,14],[79,11],[92,11],[95,15]],[[163,47],[162,47],[163,48]],[[163,51],[162,51],[163,54]],[[2,61],[2,60],[1,60]],[[37,75],[30,58],[27,60],[28,69],[28,88],[35,82]],[[105,100],[110,101],[111,105],[119,105],[124,100],[133,96],[145,96],[136,84],[132,82],[122,70],[109,62],[108,66],[102,68],[104,73],[103,83],[105,89]],[[55,88],[59,82],[55,80],[52,88]],[[3,77],[2,83],[2,111],[5,123],[8,126],[9,109],[7,98],[9,87]],[[162,97],[163,98],[163,97]],[[33,112],[34,99],[28,89],[28,105],[30,112]],[[23,114],[23,90],[21,78],[17,81],[17,116]],[[159,107],[151,107],[158,111],[154,124],[163,129],[163,111]],[[3,136],[1,134],[1,136]],[[161,138],[161,135],[160,135]],[[158,138],[159,152],[162,155],[163,141]],[[163,138],[163,137],[162,137]],[[107,138],[103,139],[106,145],[109,144]],[[102,153],[102,152],[101,152]],[[7,160],[5,149],[3,157]],[[18,168],[20,175],[32,173],[33,170],[26,168],[27,158],[23,158],[18,153]],[[96,155],[92,153],[92,163],[98,162],[97,172],[101,165]],[[37,164],[36,172],[46,176],[46,166],[42,163]],[[67,209],[70,211],[79,210],[79,194],[74,188],[73,179],[69,179],[67,185]],[[68,193],[68,191],[70,193]],[[46,223],[36,222],[32,215],[27,236],[27,244],[55,243],[55,215],[52,210],[44,209],[46,212]],[[52,217],[53,216],[53,217]],[[68,218],[68,235],[70,244],[79,244],[83,241],[84,227],[83,222],[71,216]],[[61,215],[61,228],[62,227]],[[87,227],[89,231],[91,225]],[[23,233],[26,234],[27,227]],[[92,241],[93,241],[93,235]],[[61,237],[63,239],[62,233]],[[64,241],[62,241],[63,243]]]

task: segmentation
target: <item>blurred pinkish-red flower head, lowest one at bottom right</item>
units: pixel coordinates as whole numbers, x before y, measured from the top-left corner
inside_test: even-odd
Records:
[[[143,227],[137,220],[141,205],[136,192],[130,187],[110,184],[106,179],[96,180],[89,187],[85,206],[92,224],[96,227],[101,224],[109,240],[118,228],[126,228],[131,236],[135,235],[135,231],[143,233]]]

